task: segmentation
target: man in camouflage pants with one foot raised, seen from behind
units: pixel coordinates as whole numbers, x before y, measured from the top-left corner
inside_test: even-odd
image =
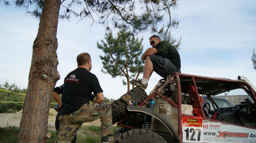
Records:
[[[78,68],[71,71],[64,79],[62,93],[62,111],[56,143],[71,142],[83,122],[100,118],[102,143],[113,143],[121,134],[111,136],[113,132],[110,104],[103,103],[104,95],[97,77],[90,72],[92,62],[88,53],[81,53],[76,58]],[[91,93],[96,96],[90,104]]]

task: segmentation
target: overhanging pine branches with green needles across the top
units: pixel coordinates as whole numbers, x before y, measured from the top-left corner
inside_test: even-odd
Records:
[[[2,3],[11,5],[9,1],[3,0]],[[44,0],[13,1],[15,7],[25,9],[26,14],[38,19],[42,16]],[[106,30],[111,30],[109,26],[113,25],[113,28],[130,31],[131,34],[150,31],[163,37],[162,40],[176,41],[171,36],[171,29],[177,28],[179,21],[171,17],[171,11],[178,8],[178,0],[65,0],[61,7],[61,19],[69,20],[74,15],[78,21],[85,19],[91,25],[99,23]]]

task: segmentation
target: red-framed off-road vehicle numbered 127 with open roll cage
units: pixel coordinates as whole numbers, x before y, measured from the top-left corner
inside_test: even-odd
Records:
[[[243,90],[250,98],[219,107],[212,96]],[[205,104],[204,96],[209,102]],[[256,89],[237,80],[174,73],[147,95],[135,87],[111,104],[118,143],[256,143]],[[211,106],[210,106],[211,104]]]

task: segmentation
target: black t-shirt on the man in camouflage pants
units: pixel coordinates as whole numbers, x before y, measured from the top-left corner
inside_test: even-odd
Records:
[[[98,78],[82,67],[71,71],[64,79],[61,115],[71,114],[83,104],[89,104],[92,92],[95,95],[103,92]]]

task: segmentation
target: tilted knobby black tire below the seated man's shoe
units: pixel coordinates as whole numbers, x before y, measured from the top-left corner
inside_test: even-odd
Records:
[[[130,99],[132,100],[132,103],[135,102],[134,105],[139,105],[147,98],[147,93],[145,90],[135,87],[132,90],[128,91],[126,94],[130,95]],[[112,123],[115,124],[116,122],[119,122],[121,119],[123,119],[124,116],[127,114],[126,106],[128,104],[123,101],[123,99],[117,99],[111,104],[111,110],[112,110]]]

